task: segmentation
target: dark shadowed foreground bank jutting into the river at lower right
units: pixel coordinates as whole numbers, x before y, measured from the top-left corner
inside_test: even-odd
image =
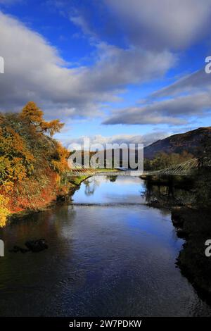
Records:
[[[211,258],[205,256],[205,242],[211,239],[210,208],[177,207],[172,209],[172,223],[186,240],[177,265],[194,287],[211,299]]]

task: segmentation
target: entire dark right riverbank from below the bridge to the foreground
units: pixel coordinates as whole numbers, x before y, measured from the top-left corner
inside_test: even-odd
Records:
[[[177,266],[206,299],[211,299],[211,258],[205,256],[205,242],[211,239],[209,178],[206,172],[204,176],[199,174],[195,181],[175,177],[166,182],[163,179],[156,182],[155,178],[146,181],[148,206],[168,209],[177,236],[185,240]]]

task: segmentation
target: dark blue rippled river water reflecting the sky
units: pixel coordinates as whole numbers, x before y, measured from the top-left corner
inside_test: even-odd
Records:
[[[1,229],[0,316],[211,316],[175,266],[170,213],[143,191],[137,177],[91,177],[72,205]],[[46,251],[8,251],[42,237]]]

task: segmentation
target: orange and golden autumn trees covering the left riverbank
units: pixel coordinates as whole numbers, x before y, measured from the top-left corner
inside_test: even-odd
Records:
[[[56,199],[68,170],[68,151],[52,138],[62,127],[59,120],[46,122],[32,101],[20,114],[0,115],[0,226],[10,213]]]

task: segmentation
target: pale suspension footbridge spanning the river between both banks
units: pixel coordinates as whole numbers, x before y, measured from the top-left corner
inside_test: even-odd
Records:
[[[149,170],[149,171],[140,171],[140,170],[131,170],[131,169],[94,169],[94,168],[84,168],[78,163],[72,163],[72,168],[68,173],[68,176],[102,176],[102,175],[123,175],[123,176],[151,176],[151,175],[191,175],[194,169],[197,169],[200,165],[200,158],[191,158],[191,160],[179,163],[176,165],[170,165],[167,168],[160,170]]]

